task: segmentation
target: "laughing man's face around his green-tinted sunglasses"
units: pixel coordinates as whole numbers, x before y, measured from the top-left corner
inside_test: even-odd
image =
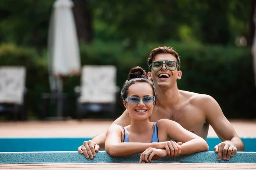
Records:
[[[166,53],[157,54],[154,57],[153,62],[166,60],[177,62],[177,59],[174,55]],[[148,79],[152,79],[155,86],[170,87],[176,83],[177,79],[181,79],[181,71],[178,71],[177,68],[174,71],[169,71],[163,64],[163,67],[160,69],[160,71],[153,71],[151,69],[151,71],[148,72]]]

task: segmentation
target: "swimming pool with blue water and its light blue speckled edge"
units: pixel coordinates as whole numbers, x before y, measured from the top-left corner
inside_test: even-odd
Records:
[[[138,162],[140,154],[126,157],[112,157],[99,151],[93,160],[85,159],[77,152],[83,141],[91,138],[0,138],[0,164],[24,163],[97,163],[97,162]],[[212,162],[212,163],[256,163],[256,137],[241,138],[246,152],[237,152],[230,161],[218,161],[213,148],[218,138],[208,138],[209,151],[181,155],[175,159],[164,157],[154,162]]]

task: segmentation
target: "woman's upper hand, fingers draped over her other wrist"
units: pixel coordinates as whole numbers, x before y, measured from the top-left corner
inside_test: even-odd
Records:
[[[166,153],[171,158],[175,158],[180,155],[181,153],[181,145],[182,142],[173,142],[173,141],[166,141],[166,142],[159,142],[157,143],[157,149],[166,149]]]

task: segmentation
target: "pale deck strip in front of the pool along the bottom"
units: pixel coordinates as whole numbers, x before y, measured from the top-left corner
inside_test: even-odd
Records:
[[[226,163],[97,163],[97,164],[5,164],[0,169],[26,170],[255,170],[256,164]]]

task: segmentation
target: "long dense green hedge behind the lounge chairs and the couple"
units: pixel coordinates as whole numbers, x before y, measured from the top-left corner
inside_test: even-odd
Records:
[[[148,54],[152,47],[160,45],[163,44],[142,43],[131,51],[119,42],[95,40],[90,45],[81,44],[81,61],[82,65],[116,65],[117,85],[122,87],[132,67],[139,65],[148,71]],[[178,80],[180,90],[213,96],[228,118],[254,118],[256,89],[253,84],[250,48],[192,46],[184,42],[166,42],[164,45],[175,46],[180,51],[183,72],[182,79]],[[3,44],[0,46],[0,61],[1,65],[26,66],[30,116],[39,116],[41,94],[49,92],[46,57],[39,57],[31,48]],[[72,99],[67,108],[69,116],[75,115],[76,85],[80,85],[79,77],[64,78],[64,91]],[[124,109],[121,100],[117,109],[118,114],[121,114]]]

